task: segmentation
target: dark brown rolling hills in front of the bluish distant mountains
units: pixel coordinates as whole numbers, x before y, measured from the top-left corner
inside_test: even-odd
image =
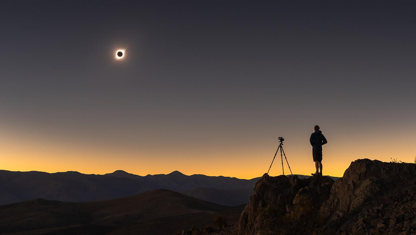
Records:
[[[222,206],[158,189],[106,201],[33,199],[0,206],[0,234],[170,235],[223,216],[236,223],[244,206]],[[23,233],[25,232],[25,233]]]

